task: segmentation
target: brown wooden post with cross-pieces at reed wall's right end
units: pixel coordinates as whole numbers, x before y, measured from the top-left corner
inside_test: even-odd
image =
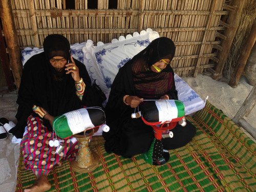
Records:
[[[222,40],[221,46],[223,47],[223,50],[218,55],[219,62],[215,68],[215,73],[212,76],[213,79],[220,79],[222,77],[222,71],[225,66],[225,62],[227,60],[230,47],[232,45],[234,35],[236,35],[237,29],[239,26],[239,20],[242,14],[244,4],[245,4],[245,1],[241,1],[241,0],[232,1],[232,6],[236,7],[236,9],[233,12],[230,12],[229,17],[227,19],[227,24],[230,27],[227,28],[224,32],[224,36],[226,36],[226,39]]]

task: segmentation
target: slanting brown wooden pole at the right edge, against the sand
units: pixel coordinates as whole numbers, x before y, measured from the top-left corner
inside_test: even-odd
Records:
[[[244,71],[244,67],[246,65],[246,61],[250,55],[251,49],[255,43],[256,40],[256,19],[254,20],[250,33],[246,39],[246,42],[244,44],[244,48],[238,58],[237,65],[234,68],[234,71],[232,73],[232,76],[229,80],[229,86],[232,88],[236,88],[239,82],[239,79]]]

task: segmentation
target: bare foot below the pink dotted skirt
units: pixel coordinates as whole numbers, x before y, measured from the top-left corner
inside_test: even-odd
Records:
[[[47,175],[38,175],[35,183],[24,190],[24,192],[43,192],[51,188]]]

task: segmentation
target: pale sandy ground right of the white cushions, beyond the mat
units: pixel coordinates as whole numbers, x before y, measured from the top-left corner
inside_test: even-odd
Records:
[[[186,83],[202,98],[207,96],[208,101],[222,110],[230,119],[237,114],[244,100],[250,93],[252,86],[246,77],[241,76],[237,88],[231,88],[226,79],[216,81],[208,75],[199,74],[196,78],[183,77]],[[256,107],[246,118],[254,128],[256,127]]]

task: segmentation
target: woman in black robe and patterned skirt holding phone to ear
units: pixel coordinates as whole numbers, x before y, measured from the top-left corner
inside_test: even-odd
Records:
[[[18,122],[10,130],[17,138],[23,138],[20,145],[24,167],[37,176],[25,191],[49,190],[47,175],[52,167],[60,165],[61,159],[75,157],[78,145],[71,138],[64,139],[66,147],[59,154],[57,147],[49,144],[56,138],[52,121],[82,106],[98,105],[99,99],[92,92],[86,67],[73,59],[68,39],[58,34],[47,36],[44,52],[32,56],[24,66],[17,99]]]

